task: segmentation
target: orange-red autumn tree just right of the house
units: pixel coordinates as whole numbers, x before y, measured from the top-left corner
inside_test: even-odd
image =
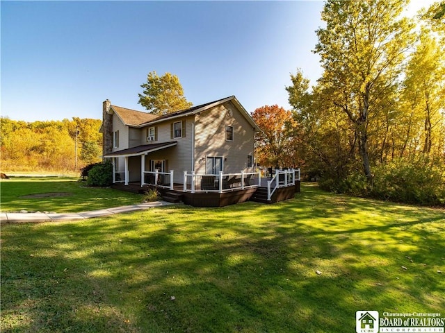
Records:
[[[296,122],[292,112],[278,105],[265,105],[252,114],[260,132],[257,133],[257,154],[260,164],[270,167],[296,167],[298,163],[293,147]]]

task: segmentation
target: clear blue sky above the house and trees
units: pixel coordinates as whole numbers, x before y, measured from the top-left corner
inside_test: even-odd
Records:
[[[419,0],[420,1],[420,0]],[[194,105],[235,95],[248,112],[290,108],[322,1],[1,1],[1,115],[101,119],[102,101],[145,110],[141,84],[176,74]]]

